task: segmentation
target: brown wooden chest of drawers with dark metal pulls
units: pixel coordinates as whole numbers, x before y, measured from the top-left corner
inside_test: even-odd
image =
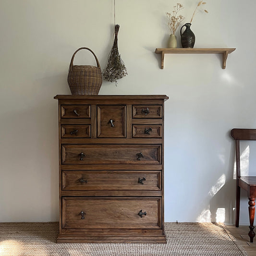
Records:
[[[59,243],[166,243],[165,95],[57,95]]]

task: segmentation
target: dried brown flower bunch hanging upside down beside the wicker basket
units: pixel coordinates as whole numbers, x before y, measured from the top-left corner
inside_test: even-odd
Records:
[[[108,64],[107,67],[103,70],[103,78],[109,82],[116,82],[117,79],[121,79],[126,76],[128,73],[126,71],[126,67],[121,59],[121,56],[118,51],[117,44],[117,35],[119,31],[119,24],[115,25],[115,39],[113,43],[113,47],[108,56]]]

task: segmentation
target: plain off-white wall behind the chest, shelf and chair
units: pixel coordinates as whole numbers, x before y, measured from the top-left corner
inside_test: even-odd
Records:
[[[195,0],[181,1],[189,22]],[[256,1],[210,0],[191,29],[195,48],[236,48],[226,70],[210,55],[166,55],[165,12],[176,1],[116,0],[119,50],[129,75],[99,94],[166,94],[165,220],[234,223],[234,127],[256,127]],[[245,8],[246,7],[246,8]],[[0,221],[58,220],[56,94],[73,52],[102,69],[112,47],[114,0],[1,0]],[[184,24],[183,23],[183,24]],[[180,47],[179,29],[176,33]],[[75,64],[94,64],[79,52]],[[253,154],[252,150],[250,151]],[[250,166],[251,168],[252,166]],[[253,173],[253,172],[251,172]],[[256,174],[256,172],[255,172]],[[241,223],[248,223],[243,193]],[[217,212],[217,214],[216,214]]]

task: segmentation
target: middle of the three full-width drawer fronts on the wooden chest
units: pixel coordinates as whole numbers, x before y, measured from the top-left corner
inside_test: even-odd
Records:
[[[161,171],[62,171],[62,190],[161,190]]]

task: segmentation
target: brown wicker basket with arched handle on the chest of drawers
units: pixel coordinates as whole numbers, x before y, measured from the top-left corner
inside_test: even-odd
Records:
[[[94,55],[97,67],[73,65],[74,56],[81,49],[89,50]],[[102,75],[98,59],[91,49],[82,47],[74,52],[69,66],[68,85],[74,95],[98,95]]]

